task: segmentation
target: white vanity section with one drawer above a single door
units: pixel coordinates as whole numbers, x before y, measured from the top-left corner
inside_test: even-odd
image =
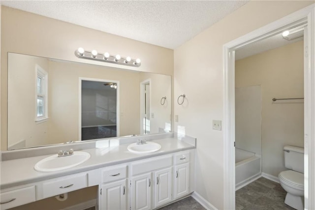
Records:
[[[99,189],[100,210],[127,209],[127,174],[126,165],[108,167],[101,170]]]

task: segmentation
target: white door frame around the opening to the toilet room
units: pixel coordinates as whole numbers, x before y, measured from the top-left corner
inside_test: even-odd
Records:
[[[304,50],[304,196],[315,209],[315,4],[223,45],[223,180],[224,209],[235,209],[235,50],[306,23]],[[311,198],[311,199],[308,199]]]

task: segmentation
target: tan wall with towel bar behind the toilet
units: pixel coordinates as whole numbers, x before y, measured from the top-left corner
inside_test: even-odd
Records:
[[[235,62],[235,87],[261,85],[262,172],[278,176],[284,145],[304,147],[303,41]],[[237,52],[236,52],[237,53]]]

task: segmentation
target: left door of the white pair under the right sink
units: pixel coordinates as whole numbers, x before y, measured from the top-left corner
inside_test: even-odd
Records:
[[[151,209],[151,173],[134,176],[131,181],[131,209]]]

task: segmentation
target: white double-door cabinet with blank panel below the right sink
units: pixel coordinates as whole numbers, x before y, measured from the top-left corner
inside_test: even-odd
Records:
[[[131,210],[151,210],[172,201],[172,162],[172,155],[164,155],[130,164]]]

